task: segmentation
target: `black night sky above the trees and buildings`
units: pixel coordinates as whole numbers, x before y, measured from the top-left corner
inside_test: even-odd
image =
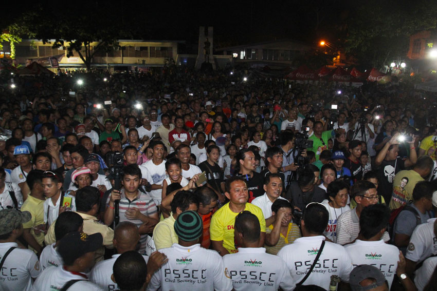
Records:
[[[0,25],[5,28],[21,12],[38,5],[45,13],[75,15],[97,7],[99,17],[107,17],[126,27],[136,28],[134,38],[145,40],[183,40],[195,43],[198,27],[214,26],[214,46],[229,46],[292,38],[316,43],[320,38],[335,38],[347,20],[353,4],[345,0],[304,1],[44,1],[23,7],[8,2],[14,13],[3,13]],[[352,7],[353,8],[353,7]],[[131,29],[133,31],[133,29]]]

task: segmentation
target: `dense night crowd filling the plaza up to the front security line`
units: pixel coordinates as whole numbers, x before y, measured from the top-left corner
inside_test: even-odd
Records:
[[[170,66],[9,82],[2,290],[437,286],[437,103],[402,81]]]

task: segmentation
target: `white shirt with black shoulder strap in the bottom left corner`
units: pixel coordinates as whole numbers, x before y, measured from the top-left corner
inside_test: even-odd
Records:
[[[0,257],[14,248],[6,257],[0,272],[0,290],[28,291],[33,290],[32,279],[41,273],[41,265],[37,255],[30,249],[19,248],[16,243],[0,243]]]

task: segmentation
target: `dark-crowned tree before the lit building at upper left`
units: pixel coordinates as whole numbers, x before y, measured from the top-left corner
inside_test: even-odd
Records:
[[[97,3],[80,14],[63,11],[65,7],[62,10],[53,6],[40,7],[24,13],[10,29],[17,35],[50,43],[53,48],[65,46],[67,57],[77,54],[88,71],[98,51],[109,52],[118,46],[120,37],[129,38],[129,32],[115,21],[116,15]],[[93,46],[95,42],[97,45]]]

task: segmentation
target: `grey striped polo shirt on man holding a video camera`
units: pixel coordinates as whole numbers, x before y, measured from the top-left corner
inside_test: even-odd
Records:
[[[143,193],[141,191],[138,191],[138,196],[134,200],[130,201],[126,196],[124,195],[124,189],[121,189],[121,199],[119,202],[119,215],[120,215],[120,222],[122,221],[129,221],[135,224],[136,226],[140,227],[142,224],[142,221],[139,219],[130,220],[126,217],[126,211],[130,208],[138,208],[138,210],[141,212],[141,214],[145,216],[151,216],[158,212],[158,209],[156,207],[155,202],[153,202],[152,197],[147,194]],[[111,199],[111,196],[108,196],[106,200],[106,204],[109,204]],[[141,235],[140,237],[140,249],[138,252],[140,254],[143,254],[145,251],[145,243],[147,240],[147,234]]]

